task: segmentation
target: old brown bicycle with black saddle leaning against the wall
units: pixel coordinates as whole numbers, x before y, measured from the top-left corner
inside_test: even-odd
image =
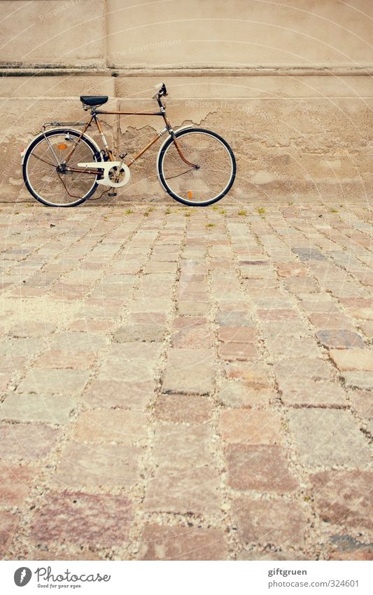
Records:
[[[159,85],[157,85],[157,88]],[[22,156],[22,173],[29,192],[43,205],[76,207],[104,186],[115,196],[128,184],[130,167],[158,139],[166,135],[157,154],[157,177],[162,188],[183,205],[204,207],[223,198],[232,188],[236,160],[229,144],[211,130],[186,125],[174,130],[166,115],[162,97],[168,95],[162,83],[153,96],[159,111],[104,111],[106,95],[81,95],[83,109],[90,110],[84,122],[47,122]],[[125,161],[127,153],[114,158],[102,130],[99,116],[161,116],[164,128],[136,155]],[[86,134],[94,123],[103,146]],[[71,128],[66,128],[71,126]],[[83,128],[83,130],[77,130]],[[101,196],[102,196],[101,194]]]

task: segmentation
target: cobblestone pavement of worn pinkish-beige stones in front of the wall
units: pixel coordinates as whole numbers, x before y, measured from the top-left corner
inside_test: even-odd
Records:
[[[372,559],[366,205],[0,215],[5,559]]]

